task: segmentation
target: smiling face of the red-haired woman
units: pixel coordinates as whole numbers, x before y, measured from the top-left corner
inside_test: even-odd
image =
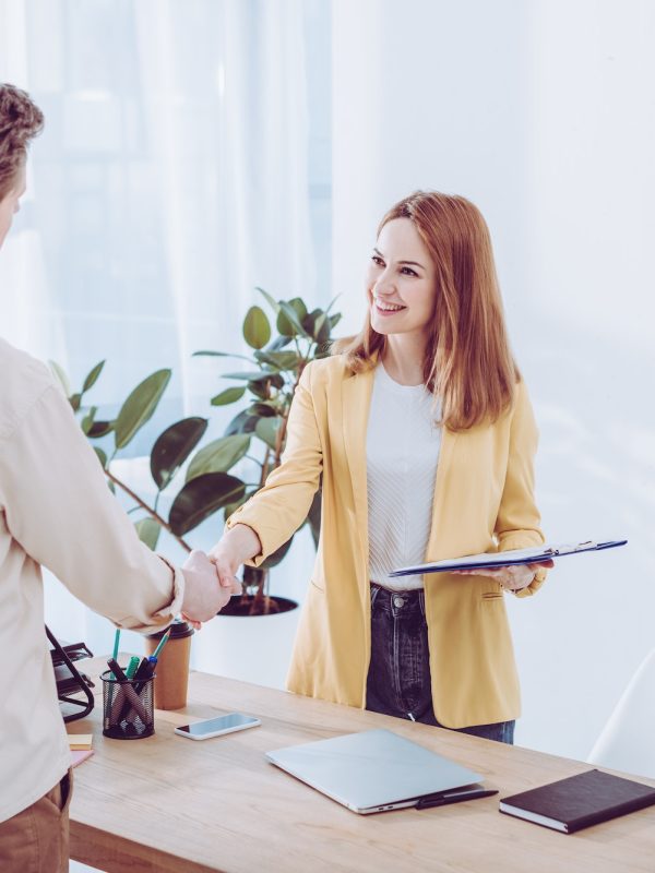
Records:
[[[388,222],[367,274],[371,326],[379,334],[425,334],[434,314],[434,265],[409,218]]]

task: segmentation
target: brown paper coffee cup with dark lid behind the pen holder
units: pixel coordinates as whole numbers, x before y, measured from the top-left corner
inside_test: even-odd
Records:
[[[145,637],[146,655],[152,655],[168,629]],[[159,653],[155,668],[155,709],[181,709],[187,705],[189,657],[193,627],[176,620],[168,642]]]

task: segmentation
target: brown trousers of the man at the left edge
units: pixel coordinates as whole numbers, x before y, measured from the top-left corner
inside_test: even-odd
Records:
[[[0,823],[2,873],[68,873],[72,792],[70,769],[40,800]]]

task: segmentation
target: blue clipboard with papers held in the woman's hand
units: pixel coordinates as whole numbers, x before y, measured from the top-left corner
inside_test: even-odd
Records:
[[[614,539],[605,542],[579,542],[576,545],[533,546],[528,549],[510,549],[507,552],[483,552],[483,554],[465,554],[463,558],[452,558],[445,561],[432,561],[427,564],[402,566],[389,574],[390,578],[397,576],[415,576],[424,573],[449,573],[453,570],[485,570],[499,566],[515,566],[517,564],[534,564],[540,561],[563,558],[565,554],[581,554],[582,552],[598,552],[604,549],[616,549],[626,546],[627,539]]]

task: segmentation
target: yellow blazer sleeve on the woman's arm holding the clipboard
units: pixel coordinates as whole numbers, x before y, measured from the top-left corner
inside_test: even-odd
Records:
[[[516,385],[510,424],[510,450],[505,482],[496,521],[498,550],[525,549],[544,542],[540,516],[535,503],[534,458],[538,431],[525,382]],[[548,571],[539,569],[532,583],[516,593],[528,597],[540,588]]]

